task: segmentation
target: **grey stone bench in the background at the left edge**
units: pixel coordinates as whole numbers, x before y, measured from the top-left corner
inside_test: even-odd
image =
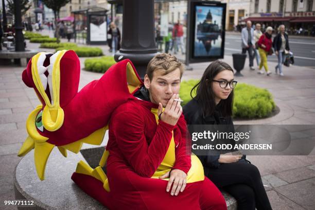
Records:
[[[21,52],[16,52],[14,50],[0,50],[0,63],[7,63],[6,61],[11,62],[11,59],[14,59],[20,60],[20,65],[25,67],[28,60],[39,52],[40,51],[34,49]]]

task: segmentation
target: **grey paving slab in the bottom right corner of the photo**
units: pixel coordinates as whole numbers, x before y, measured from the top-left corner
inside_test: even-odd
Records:
[[[315,206],[315,178],[276,187],[275,191],[289,198],[306,209]]]

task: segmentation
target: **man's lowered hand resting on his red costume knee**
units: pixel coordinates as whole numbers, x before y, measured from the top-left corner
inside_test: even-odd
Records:
[[[167,183],[166,191],[169,192],[172,184],[171,195],[178,195],[179,191],[181,193],[184,191],[186,187],[187,174],[180,169],[173,169],[169,175],[169,171],[165,173],[163,176],[159,177],[159,179],[166,179],[169,177],[169,181]]]

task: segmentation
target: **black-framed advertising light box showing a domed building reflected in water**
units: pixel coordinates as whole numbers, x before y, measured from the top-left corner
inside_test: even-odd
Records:
[[[190,63],[223,58],[226,4],[189,1],[188,58]]]

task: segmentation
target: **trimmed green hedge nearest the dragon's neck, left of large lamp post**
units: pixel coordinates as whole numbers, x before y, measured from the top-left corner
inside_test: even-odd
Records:
[[[104,56],[101,58],[89,58],[84,61],[86,71],[105,73],[113,64],[115,64],[114,57]]]

